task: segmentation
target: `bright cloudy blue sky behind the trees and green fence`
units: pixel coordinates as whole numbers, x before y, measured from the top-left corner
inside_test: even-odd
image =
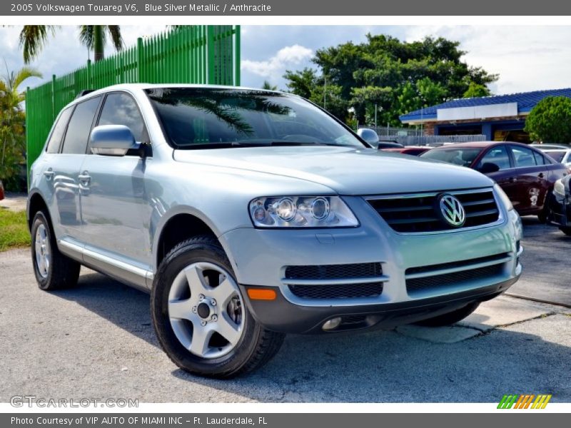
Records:
[[[24,65],[18,36],[20,26],[0,27],[0,75]],[[495,94],[571,87],[571,26],[242,26],[242,85],[260,87],[269,81],[285,89],[283,73],[314,66],[317,49],[347,41],[358,44],[366,34],[389,34],[405,41],[443,36],[460,42],[470,66],[481,66],[500,78]],[[126,46],[138,36],[165,31],[165,26],[121,26]],[[36,86],[84,66],[89,53],[78,40],[76,26],[61,26],[31,66],[44,79],[30,78]],[[106,46],[106,54],[112,54]],[[91,54],[92,56],[93,54]],[[3,60],[3,61],[2,61]],[[3,62],[6,62],[4,66]]]

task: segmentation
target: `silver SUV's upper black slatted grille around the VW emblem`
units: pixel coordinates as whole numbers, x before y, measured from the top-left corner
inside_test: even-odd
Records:
[[[470,193],[447,191],[462,203],[466,212],[463,228],[494,223],[500,215],[492,190],[477,190]],[[436,232],[455,229],[440,220],[437,211],[438,193],[425,195],[399,195],[394,198],[369,199],[368,203],[390,225],[401,233]]]

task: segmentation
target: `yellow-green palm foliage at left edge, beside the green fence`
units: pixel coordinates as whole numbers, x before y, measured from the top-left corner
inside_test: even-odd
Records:
[[[6,75],[0,78],[0,178],[11,190],[19,190],[20,165],[26,160],[26,116],[21,106],[26,93],[19,88],[31,77],[41,77],[41,74],[30,67],[16,73],[6,68]]]

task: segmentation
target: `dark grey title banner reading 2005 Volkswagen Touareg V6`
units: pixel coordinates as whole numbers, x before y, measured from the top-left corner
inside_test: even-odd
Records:
[[[562,16],[561,0],[7,0],[2,16]],[[430,24],[430,21],[427,21]]]

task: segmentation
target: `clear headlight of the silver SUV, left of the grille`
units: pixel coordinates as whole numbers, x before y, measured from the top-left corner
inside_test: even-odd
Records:
[[[256,228],[347,228],[359,225],[338,196],[278,196],[250,203]]]

